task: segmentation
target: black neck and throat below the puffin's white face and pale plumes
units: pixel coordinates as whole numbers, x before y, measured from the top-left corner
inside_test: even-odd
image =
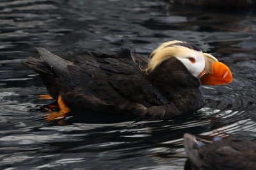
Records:
[[[189,73],[188,69],[175,57],[165,60],[152,73],[148,74],[152,85],[175,105],[183,110],[184,104],[193,110],[202,103],[202,92],[200,91],[200,81]],[[194,106],[195,105],[195,106]]]

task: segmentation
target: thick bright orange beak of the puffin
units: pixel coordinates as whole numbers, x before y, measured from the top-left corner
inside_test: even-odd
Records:
[[[204,74],[201,78],[202,85],[223,85],[232,82],[232,73],[225,64],[214,61],[211,65],[211,73]]]

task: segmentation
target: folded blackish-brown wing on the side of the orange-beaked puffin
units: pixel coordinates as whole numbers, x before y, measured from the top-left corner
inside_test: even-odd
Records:
[[[129,102],[148,105],[149,101],[145,96],[153,94],[148,88],[150,83],[133,61],[131,52],[129,54],[80,55],[77,56],[75,66],[68,66],[68,74],[72,75],[74,83],[82,87],[86,94],[92,94],[109,103]]]

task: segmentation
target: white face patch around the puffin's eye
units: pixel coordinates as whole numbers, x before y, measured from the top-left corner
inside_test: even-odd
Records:
[[[195,77],[198,77],[199,74],[204,71],[205,60],[202,52],[188,49],[186,52],[182,53],[182,56],[176,56],[176,58],[180,60]]]

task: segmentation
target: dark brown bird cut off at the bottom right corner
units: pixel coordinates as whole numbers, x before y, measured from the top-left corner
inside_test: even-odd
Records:
[[[236,138],[214,138],[213,141],[184,134],[188,154],[185,170],[256,169],[256,143]]]

